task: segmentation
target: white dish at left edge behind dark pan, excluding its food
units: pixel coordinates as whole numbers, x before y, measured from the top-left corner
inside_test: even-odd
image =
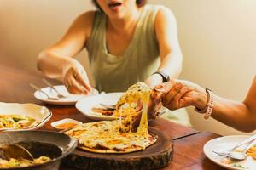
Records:
[[[10,128],[0,128],[0,131],[20,131],[20,130],[35,130],[39,127],[44,126],[46,122],[49,121],[52,116],[51,111],[44,106],[35,104],[17,104],[17,103],[3,103],[0,102],[0,115],[20,115],[28,116],[37,120],[38,123],[31,127],[26,127],[24,129],[10,129]]]

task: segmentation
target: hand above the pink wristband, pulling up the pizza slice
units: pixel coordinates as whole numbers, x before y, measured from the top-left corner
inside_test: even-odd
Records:
[[[180,80],[170,80],[154,88],[162,93],[162,104],[170,109],[177,110],[189,105],[203,110],[207,106],[207,93],[199,85]]]

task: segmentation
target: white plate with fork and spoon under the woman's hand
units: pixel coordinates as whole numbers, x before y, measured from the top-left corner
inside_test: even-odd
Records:
[[[79,99],[84,97],[94,96],[98,94],[98,91],[93,88],[89,95],[84,94],[69,94],[64,85],[56,85],[45,88],[37,88],[38,90],[34,93],[34,97],[47,104],[51,105],[75,105]]]

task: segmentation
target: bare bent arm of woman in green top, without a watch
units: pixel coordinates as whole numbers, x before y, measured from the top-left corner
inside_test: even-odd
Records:
[[[38,69],[48,77],[62,77],[67,90],[73,94],[88,94],[90,84],[82,65],[73,57],[84,48],[90,37],[95,12],[81,14],[61,41],[38,55]]]

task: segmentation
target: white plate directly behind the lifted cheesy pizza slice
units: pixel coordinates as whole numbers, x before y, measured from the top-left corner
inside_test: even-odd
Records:
[[[116,119],[115,116],[103,116],[100,113],[96,113],[91,111],[93,107],[102,107],[100,103],[106,105],[115,105],[119,98],[124,93],[117,92],[117,93],[108,93],[108,94],[97,94],[95,96],[90,96],[84,99],[80,99],[79,102],[76,104],[76,108],[84,114],[84,116],[89,117],[92,120],[96,121],[112,121]],[[103,107],[102,107],[103,108]]]

